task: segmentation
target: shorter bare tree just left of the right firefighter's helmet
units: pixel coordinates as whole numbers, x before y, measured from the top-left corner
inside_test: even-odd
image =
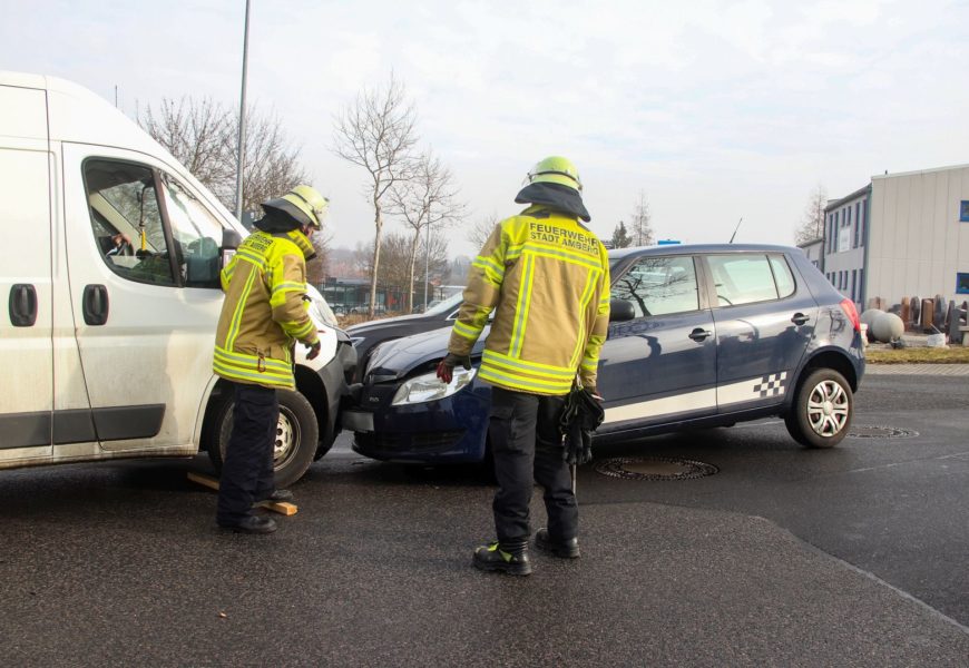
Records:
[[[414,285],[418,249],[424,237],[424,306],[430,283],[431,245],[427,243],[432,230],[459,220],[464,205],[458,200],[458,188],[451,170],[428,150],[418,158],[410,180],[395,184],[389,193],[388,213],[400,216],[410,227],[410,276]],[[413,311],[413,293],[408,293],[408,311]]]

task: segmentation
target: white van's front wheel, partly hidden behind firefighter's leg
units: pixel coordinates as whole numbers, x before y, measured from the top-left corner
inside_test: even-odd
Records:
[[[280,397],[280,421],[273,444],[273,470],[276,488],[282,489],[300,480],[313,463],[320,426],[313,406],[305,396],[291,390],[277,390],[276,395]],[[213,411],[213,426],[217,430],[218,440],[209,442],[208,459],[219,473],[232,435],[232,400],[224,401]]]

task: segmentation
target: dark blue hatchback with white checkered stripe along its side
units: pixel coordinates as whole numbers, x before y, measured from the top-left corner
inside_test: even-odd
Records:
[[[610,253],[611,315],[599,358],[597,442],[781,415],[810,448],[848,433],[864,373],[861,325],[797,248],[658,246]],[[449,330],[380,345],[344,411],[353,449],[379,460],[476,462],[490,387],[434,369]],[[474,348],[480,360],[487,331]]]

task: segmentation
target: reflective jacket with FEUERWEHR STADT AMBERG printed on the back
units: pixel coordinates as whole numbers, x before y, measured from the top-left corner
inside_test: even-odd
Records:
[[[596,385],[609,324],[609,259],[595,234],[534,205],[499,223],[471,264],[448,350],[468,355],[488,324],[479,377],[531,394]]]

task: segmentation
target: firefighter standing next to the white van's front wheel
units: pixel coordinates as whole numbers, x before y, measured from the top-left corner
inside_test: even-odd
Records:
[[[310,186],[296,186],[262,205],[265,216],[222,271],[225,302],[216,330],[213,371],[233,385],[235,406],[218,491],[216,522],[248,533],[271,533],[276,524],[254,515],[263,500],[288,501],[273,482],[273,443],[280,416],[276,390],[295,389],[293,346],[320,354],[320,337],[303,297],[309,235],[322,227],[329,200]]]

